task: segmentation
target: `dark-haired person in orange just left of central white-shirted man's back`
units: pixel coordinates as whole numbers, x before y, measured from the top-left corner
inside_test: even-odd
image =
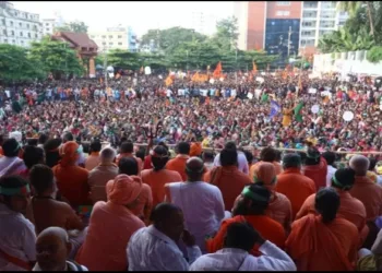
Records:
[[[165,185],[182,181],[178,171],[166,169],[168,151],[164,146],[156,146],[151,153],[153,168],[141,171],[142,182],[150,186],[153,194],[153,207],[165,201]]]

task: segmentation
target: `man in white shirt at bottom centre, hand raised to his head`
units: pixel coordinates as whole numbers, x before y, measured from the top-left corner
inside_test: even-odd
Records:
[[[261,257],[249,253],[259,244]],[[264,240],[248,223],[228,226],[224,248],[194,261],[190,271],[296,271],[294,261],[283,250]]]

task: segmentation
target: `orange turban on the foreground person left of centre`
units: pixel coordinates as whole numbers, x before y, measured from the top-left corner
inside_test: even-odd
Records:
[[[142,190],[142,180],[138,176],[118,175],[106,185],[108,201],[119,205],[134,202]]]

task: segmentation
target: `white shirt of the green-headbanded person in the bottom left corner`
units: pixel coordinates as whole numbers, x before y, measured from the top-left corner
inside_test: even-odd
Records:
[[[0,249],[25,262],[36,261],[35,226],[23,214],[0,203]],[[25,271],[0,253],[0,271]]]

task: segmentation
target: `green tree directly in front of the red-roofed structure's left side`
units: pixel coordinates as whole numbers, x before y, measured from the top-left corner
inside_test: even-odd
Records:
[[[60,79],[63,74],[84,73],[83,63],[67,43],[45,38],[32,44],[29,56],[32,60],[41,63],[44,71],[51,72],[55,79]]]

